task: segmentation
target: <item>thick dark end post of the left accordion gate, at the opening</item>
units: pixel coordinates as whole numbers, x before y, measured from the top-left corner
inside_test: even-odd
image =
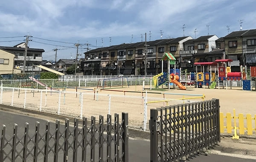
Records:
[[[128,133],[128,113],[122,113],[122,129],[124,133],[122,134],[122,153],[124,156],[122,157],[123,162],[128,162],[129,159],[129,152],[128,152],[128,140],[129,140],[129,133]]]

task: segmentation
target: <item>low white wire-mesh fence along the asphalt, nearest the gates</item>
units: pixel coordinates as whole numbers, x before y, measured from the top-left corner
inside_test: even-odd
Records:
[[[147,93],[145,96],[103,94],[89,89],[67,92],[2,86],[0,92],[0,104],[80,119],[127,112],[129,127],[144,131],[149,131],[150,109],[187,102],[195,102],[195,99],[163,98],[163,94],[148,97]]]

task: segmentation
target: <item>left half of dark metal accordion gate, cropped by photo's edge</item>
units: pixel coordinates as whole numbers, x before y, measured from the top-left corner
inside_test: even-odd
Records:
[[[128,113],[122,113],[122,120],[115,114],[113,123],[108,115],[106,120],[99,116],[99,123],[94,116],[90,124],[83,118],[81,124],[74,119],[71,127],[66,119],[64,126],[57,120],[50,127],[47,122],[42,132],[37,122],[34,132],[29,132],[26,123],[23,136],[18,136],[17,124],[12,135],[3,125],[0,162],[128,162]]]

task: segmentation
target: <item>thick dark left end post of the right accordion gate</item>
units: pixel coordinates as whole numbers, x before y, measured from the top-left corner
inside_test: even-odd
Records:
[[[157,162],[157,148],[158,148],[158,138],[157,138],[157,109],[150,109],[150,162]]]

